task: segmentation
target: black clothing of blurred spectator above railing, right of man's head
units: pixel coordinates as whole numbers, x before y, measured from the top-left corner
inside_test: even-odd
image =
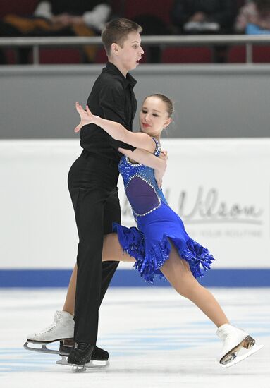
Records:
[[[233,0],[175,0],[171,9],[173,24],[180,28],[197,12],[207,14],[209,21],[219,23],[222,29],[228,30],[235,17]]]

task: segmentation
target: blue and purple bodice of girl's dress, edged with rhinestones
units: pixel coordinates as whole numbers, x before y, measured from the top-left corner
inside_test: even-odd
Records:
[[[156,143],[154,155],[159,157],[161,146],[157,139],[152,139]],[[167,205],[164,194],[154,178],[154,169],[143,164],[133,164],[125,156],[121,158],[118,169],[123,177],[125,194],[136,220],[137,217],[146,216],[156,210],[161,202]]]

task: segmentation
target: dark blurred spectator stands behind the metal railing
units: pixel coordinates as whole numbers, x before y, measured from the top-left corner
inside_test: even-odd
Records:
[[[1,37],[99,36],[116,17],[135,20],[143,35],[270,34],[270,0],[2,0],[0,17]],[[245,61],[245,47],[144,48],[149,63]],[[104,61],[94,46],[40,51],[41,63]],[[254,61],[270,61],[269,47],[255,47]],[[2,48],[0,63],[32,63],[32,49]]]

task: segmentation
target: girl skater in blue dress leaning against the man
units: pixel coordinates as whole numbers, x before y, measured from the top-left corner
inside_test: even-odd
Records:
[[[81,121],[75,132],[88,123],[95,123],[100,127],[100,131],[106,131],[112,138],[145,149],[158,157],[161,152],[159,139],[162,130],[171,123],[173,104],[164,95],[146,97],[140,111],[140,133],[131,133],[119,123],[94,116],[88,107],[85,111],[78,102],[76,109]],[[153,170],[133,162],[132,151],[119,151],[124,156],[118,168],[137,228],[114,224],[113,231],[116,233],[104,236],[102,261],[135,262],[134,267],[147,282],[152,283],[156,275],[165,277],[180,295],[195,303],[218,327],[216,334],[223,340],[219,363],[223,367],[231,366],[259,350],[247,332],[229,323],[214,296],[198,283],[196,278],[202,277],[210,269],[214,258],[206,248],[188,236],[182,220],[171,210],[162,190],[158,188]],[[66,314],[71,315],[75,296],[75,274],[74,271],[63,308]],[[54,326],[59,330],[61,326],[71,325],[68,323],[68,319],[71,322],[69,315],[65,317],[63,314],[63,323],[60,320]],[[33,336],[40,338],[39,334],[32,334]],[[43,332],[43,338],[46,338],[46,332]],[[63,338],[63,335],[58,336],[58,339]],[[243,348],[250,350],[243,356],[238,356]]]

